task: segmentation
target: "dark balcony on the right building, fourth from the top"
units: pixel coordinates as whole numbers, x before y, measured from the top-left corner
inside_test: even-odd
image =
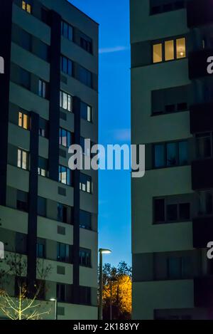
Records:
[[[213,159],[192,162],[192,189],[213,188]]]

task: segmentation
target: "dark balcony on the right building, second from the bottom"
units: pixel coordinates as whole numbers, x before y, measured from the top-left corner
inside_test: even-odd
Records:
[[[213,240],[213,217],[200,217],[192,222],[193,247],[206,248],[209,241]]]

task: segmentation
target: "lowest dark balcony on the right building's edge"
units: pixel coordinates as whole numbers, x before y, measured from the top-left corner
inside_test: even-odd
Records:
[[[213,277],[194,279],[194,296],[196,308],[212,308],[213,306]]]

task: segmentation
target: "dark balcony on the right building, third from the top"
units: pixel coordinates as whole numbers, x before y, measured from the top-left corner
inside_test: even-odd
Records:
[[[213,103],[200,103],[190,107],[190,132],[213,131]]]

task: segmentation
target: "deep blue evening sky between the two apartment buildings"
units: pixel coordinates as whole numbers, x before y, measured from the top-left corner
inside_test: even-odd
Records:
[[[70,0],[99,23],[99,143],[130,142],[129,0]],[[99,246],[104,262],[131,264],[129,171],[99,172]]]

